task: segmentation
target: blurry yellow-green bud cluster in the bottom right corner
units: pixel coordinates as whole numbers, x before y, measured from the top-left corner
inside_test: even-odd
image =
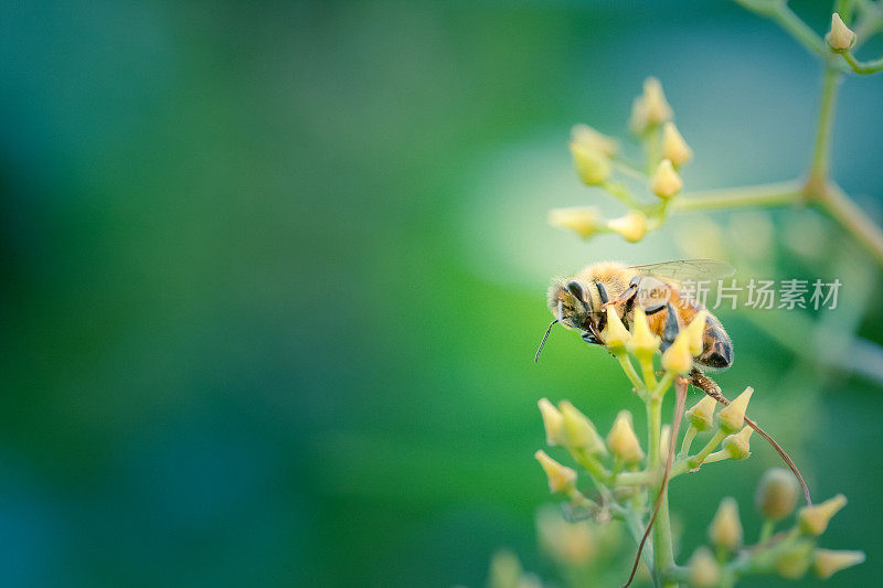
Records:
[[[703,545],[693,552],[687,573],[690,585],[698,588],[732,586],[741,577],[758,574],[797,579],[810,569],[825,579],[864,562],[862,552],[822,549],[816,545],[831,517],[845,504],[842,494],[815,506],[805,506],[797,513],[792,528],[773,535],[775,524],[794,513],[798,494],[790,472],[773,469],[764,474],[755,495],[764,525],[757,544],[748,547],[744,546],[736,501],[732,498],[721,501],[709,526],[713,550]]]

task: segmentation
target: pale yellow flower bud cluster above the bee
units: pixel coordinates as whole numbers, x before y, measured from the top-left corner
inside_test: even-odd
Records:
[[[629,243],[636,243],[663,221],[671,199],[683,188],[679,170],[693,158],[678,127],[672,121],[673,111],[662,85],[655,77],[643,83],[643,92],[635,98],[629,127],[641,141],[646,161],[637,165],[626,161],[619,141],[587,126],[576,125],[571,130],[570,150],[576,173],[586,185],[602,188],[626,204],[623,216],[605,220],[594,207],[574,206],[550,211],[553,226],[575,232],[583,238],[603,233],[618,233]],[[628,185],[618,182],[615,173],[638,179],[647,193],[657,197],[642,203]]]

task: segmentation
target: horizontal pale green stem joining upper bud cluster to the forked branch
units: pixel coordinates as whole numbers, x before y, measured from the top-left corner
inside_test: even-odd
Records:
[[[679,212],[695,212],[748,206],[786,206],[802,202],[804,199],[805,194],[798,182],[781,182],[684,194],[671,202],[671,209]]]

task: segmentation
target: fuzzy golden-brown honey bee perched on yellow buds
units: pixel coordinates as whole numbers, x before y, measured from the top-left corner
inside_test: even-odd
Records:
[[[552,282],[549,288],[549,309],[555,316],[552,324],[582,331],[584,341],[603,345],[607,308],[615,308],[626,329],[631,331],[635,308],[640,306],[650,330],[662,340],[664,351],[674,342],[678,332],[703,310],[698,300],[684,295],[681,284],[687,279],[711,280],[733,271],[727,264],[714,259],[630,267],[609,261],[594,264],[572,278]],[[711,313],[705,321],[702,353],[694,363],[702,371],[726,370],[733,364],[733,342],[721,321]]]

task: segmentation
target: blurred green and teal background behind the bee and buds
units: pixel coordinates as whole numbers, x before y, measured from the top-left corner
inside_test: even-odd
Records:
[[[826,30],[827,3],[794,6]],[[689,189],[798,175],[819,65],[773,24],[720,1],[4,2],[0,63],[4,585],[481,586],[498,547],[546,574],[536,399],[605,430],[639,410],[573,333],[532,363],[549,278],[695,255],[844,282],[826,314],[721,311],[720,381],[755,386],[816,496],[849,496],[823,544],[869,559],[828,586],[879,581],[868,258],[807,211],[638,245],[545,224],[600,201],[570,127],[625,136],[647,75]],[[882,93],[848,78],[833,141],[877,220]],[[681,553],[723,493],[756,536],[776,464],[677,480]]]

